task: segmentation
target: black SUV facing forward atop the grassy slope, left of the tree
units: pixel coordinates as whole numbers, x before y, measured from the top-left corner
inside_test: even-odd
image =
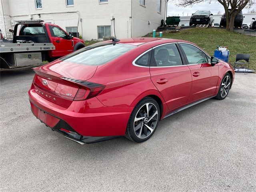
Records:
[[[197,24],[209,24],[212,26],[213,18],[212,13],[210,11],[196,11],[190,17],[189,26],[197,25]]]

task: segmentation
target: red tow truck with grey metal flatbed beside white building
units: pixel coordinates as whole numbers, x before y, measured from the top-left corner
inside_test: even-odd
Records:
[[[58,25],[42,20],[16,22],[12,42],[0,43],[0,68],[33,66],[84,47],[84,40]]]

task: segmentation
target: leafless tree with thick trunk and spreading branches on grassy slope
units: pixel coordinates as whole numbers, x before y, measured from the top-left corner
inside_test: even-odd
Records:
[[[242,11],[243,8],[250,8],[253,4],[256,3],[256,0],[178,0],[177,6],[192,6],[194,4],[200,4],[202,2],[218,1],[224,7],[226,14],[226,30],[234,30],[234,21],[236,15]]]

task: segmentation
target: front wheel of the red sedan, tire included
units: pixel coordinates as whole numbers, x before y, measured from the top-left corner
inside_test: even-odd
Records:
[[[215,98],[218,100],[223,100],[224,98],[226,98],[230,90],[231,83],[232,83],[231,76],[229,73],[226,73],[220,83],[220,88]]]

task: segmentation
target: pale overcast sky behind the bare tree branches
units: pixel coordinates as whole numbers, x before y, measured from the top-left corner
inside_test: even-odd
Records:
[[[224,8],[223,6],[217,2],[212,1],[211,4],[209,3],[202,3],[202,4],[196,4],[194,6],[188,6],[188,7],[177,7],[175,5],[175,0],[169,0],[168,1],[168,10],[167,10],[167,16],[190,16],[192,13],[196,12],[197,10],[210,10],[212,14],[217,14],[218,11],[220,11],[220,14],[224,14]],[[248,10],[244,9],[243,13],[248,12]]]

